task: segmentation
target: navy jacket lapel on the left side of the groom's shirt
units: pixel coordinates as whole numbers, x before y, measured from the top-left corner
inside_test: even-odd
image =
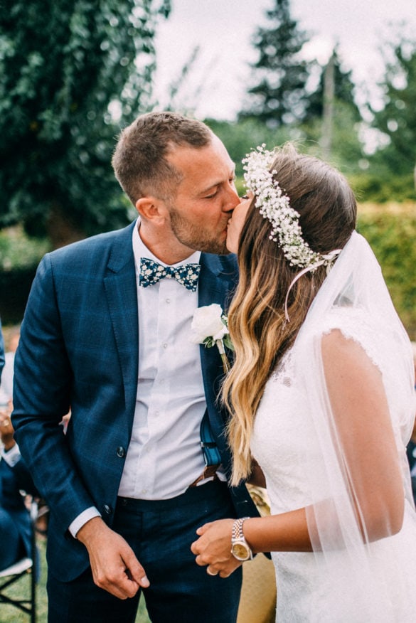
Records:
[[[124,383],[127,413],[134,413],[139,369],[137,282],[132,247],[136,221],[114,242],[104,278],[107,304]]]

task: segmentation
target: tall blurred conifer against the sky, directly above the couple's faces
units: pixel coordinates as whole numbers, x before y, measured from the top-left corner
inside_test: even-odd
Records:
[[[307,38],[290,15],[289,0],[274,0],[266,16],[270,28],[258,28],[254,37],[258,59],[252,67],[259,81],[248,91],[252,105],[240,118],[257,117],[277,127],[304,117],[309,63],[299,53]]]

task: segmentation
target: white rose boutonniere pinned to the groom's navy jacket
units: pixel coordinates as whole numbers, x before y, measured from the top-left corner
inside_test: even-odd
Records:
[[[191,331],[193,344],[205,344],[207,348],[217,346],[223,360],[224,372],[227,373],[230,370],[230,363],[225,354],[225,346],[233,350],[233,344],[228,331],[228,319],[221,306],[213,303],[198,307],[193,314]]]

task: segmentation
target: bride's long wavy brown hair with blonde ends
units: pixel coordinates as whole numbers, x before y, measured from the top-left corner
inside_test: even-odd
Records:
[[[342,248],[356,227],[356,200],[346,179],[323,161],[299,154],[292,144],[276,151],[270,170],[299,214],[304,240],[326,253]],[[235,362],[223,384],[231,412],[228,441],[233,451],[232,483],[252,469],[250,437],[265,384],[294,343],[326,268],[307,272],[292,287],[285,321],[284,299],[299,268],[291,267],[278,243],[269,239],[271,225],[253,199],[240,234],[240,282],[228,311]],[[276,405],[278,417],[279,405]],[[300,433],[299,433],[300,434]]]

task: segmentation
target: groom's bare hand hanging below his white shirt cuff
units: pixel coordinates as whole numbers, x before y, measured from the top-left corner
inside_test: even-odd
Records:
[[[121,600],[134,597],[149,580],[132,548],[124,538],[112,531],[102,518],[87,521],[77,533],[90,555],[94,582]]]

